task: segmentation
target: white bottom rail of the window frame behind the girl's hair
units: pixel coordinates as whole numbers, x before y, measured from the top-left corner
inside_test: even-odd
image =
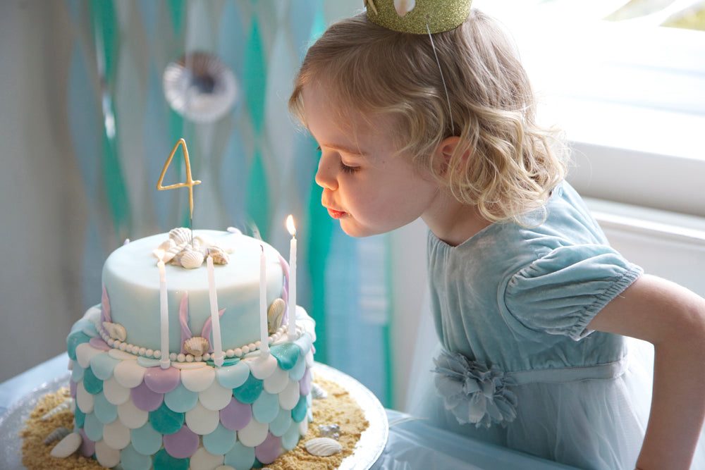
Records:
[[[542,120],[565,130],[568,180],[586,197],[705,216],[705,116],[553,98]]]

